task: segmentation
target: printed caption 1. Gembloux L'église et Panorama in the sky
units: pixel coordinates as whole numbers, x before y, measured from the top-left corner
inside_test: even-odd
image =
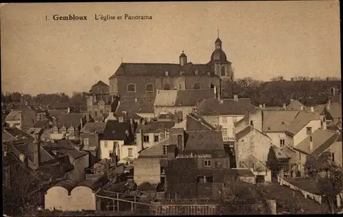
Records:
[[[54,14],[45,15],[46,21],[121,21],[121,20],[152,20],[151,15],[146,14],[94,14],[92,16],[82,16],[79,14]]]

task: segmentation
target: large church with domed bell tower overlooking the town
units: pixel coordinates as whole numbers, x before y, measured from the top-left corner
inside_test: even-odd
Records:
[[[219,94],[221,80],[233,80],[231,62],[222,50],[222,41],[215,41],[215,51],[206,64],[187,62],[182,51],[179,63],[121,63],[109,78],[110,95],[120,95],[121,99],[156,97],[157,90],[169,89],[213,89]]]

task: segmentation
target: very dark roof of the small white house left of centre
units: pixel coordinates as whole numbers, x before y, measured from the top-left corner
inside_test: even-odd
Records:
[[[102,140],[123,140],[126,137],[126,130],[130,129],[130,122],[108,121]]]

